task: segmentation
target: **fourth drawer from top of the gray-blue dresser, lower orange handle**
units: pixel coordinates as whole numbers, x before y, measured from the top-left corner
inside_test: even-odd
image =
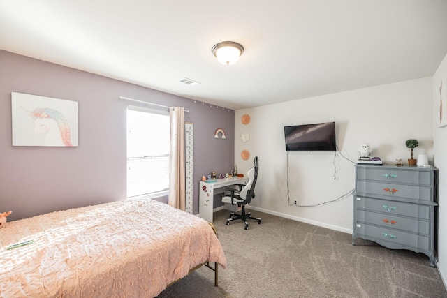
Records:
[[[430,221],[422,221],[416,218],[407,218],[394,214],[381,214],[371,211],[356,211],[356,221],[380,225],[383,228],[404,230],[415,234],[430,234]]]

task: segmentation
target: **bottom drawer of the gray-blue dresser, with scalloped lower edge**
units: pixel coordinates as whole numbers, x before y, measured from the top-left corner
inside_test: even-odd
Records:
[[[358,237],[376,241],[388,248],[404,248],[416,252],[429,251],[430,248],[429,237],[380,228],[374,225],[356,223],[356,233]]]

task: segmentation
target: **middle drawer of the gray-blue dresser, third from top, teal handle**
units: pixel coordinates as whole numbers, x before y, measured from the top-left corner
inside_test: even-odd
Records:
[[[403,215],[430,220],[430,207],[423,204],[411,204],[358,196],[356,196],[355,204],[356,209],[365,211],[376,211],[383,214]]]

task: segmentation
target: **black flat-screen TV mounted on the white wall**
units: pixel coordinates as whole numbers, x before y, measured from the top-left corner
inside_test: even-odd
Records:
[[[284,126],[286,151],[335,151],[335,122]]]

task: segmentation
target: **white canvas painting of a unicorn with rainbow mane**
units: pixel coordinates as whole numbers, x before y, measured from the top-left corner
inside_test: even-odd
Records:
[[[12,92],[13,146],[78,146],[78,102]]]

